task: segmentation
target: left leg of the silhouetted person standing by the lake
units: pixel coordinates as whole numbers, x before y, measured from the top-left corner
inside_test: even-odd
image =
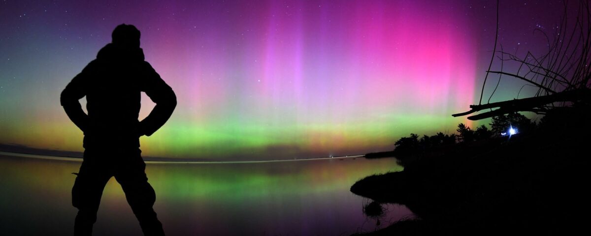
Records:
[[[101,168],[89,157],[89,153],[85,152],[85,160],[72,188],[72,205],[78,208],[74,221],[74,235],[92,235],[92,225],[96,222],[100,198],[110,178],[108,170]]]

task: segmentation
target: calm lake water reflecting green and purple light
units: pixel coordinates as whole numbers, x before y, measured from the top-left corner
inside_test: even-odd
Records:
[[[47,157],[48,158],[48,157]],[[0,153],[0,234],[72,235],[70,191],[81,160]],[[253,163],[148,162],[154,205],[167,235],[349,235],[411,216],[401,205],[363,215],[368,199],[349,192],[374,173],[401,171],[394,159],[333,158]],[[95,235],[142,235],[121,186],[103,192]]]

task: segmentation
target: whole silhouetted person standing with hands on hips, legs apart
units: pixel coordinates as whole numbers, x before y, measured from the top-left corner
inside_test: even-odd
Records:
[[[112,176],[121,184],[144,235],[164,235],[152,208],[156,195],[145,174],[139,137],[163,126],[177,101],[170,86],[144,61],[139,35],[133,25],[118,25],[112,43],[61,93],[61,106],[84,132],[84,160],[72,188],[72,204],[78,208],[74,235],[92,234],[100,197]],[[139,122],[141,91],[156,106]],[[78,101],[84,96],[88,114]]]

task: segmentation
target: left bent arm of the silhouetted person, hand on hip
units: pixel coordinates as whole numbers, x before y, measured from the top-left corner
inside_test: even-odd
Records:
[[[83,132],[85,132],[88,127],[89,118],[88,115],[84,113],[84,110],[82,110],[82,106],[80,106],[78,100],[86,96],[86,83],[89,67],[91,67],[90,64],[87,65],[80,74],[77,74],[77,76],[75,76],[66,86],[66,89],[61,91],[60,96],[60,103],[61,106],[64,107],[66,114]]]

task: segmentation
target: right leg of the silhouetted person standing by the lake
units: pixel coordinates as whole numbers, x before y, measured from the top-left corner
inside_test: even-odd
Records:
[[[122,156],[124,159],[115,173],[115,179],[125,192],[127,202],[138,218],[139,226],[144,235],[164,235],[162,224],[156,217],[152,208],[156,201],[154,188],[148,183],[145,174],[145,163],[137,151],[128,153],[129,156]]]

